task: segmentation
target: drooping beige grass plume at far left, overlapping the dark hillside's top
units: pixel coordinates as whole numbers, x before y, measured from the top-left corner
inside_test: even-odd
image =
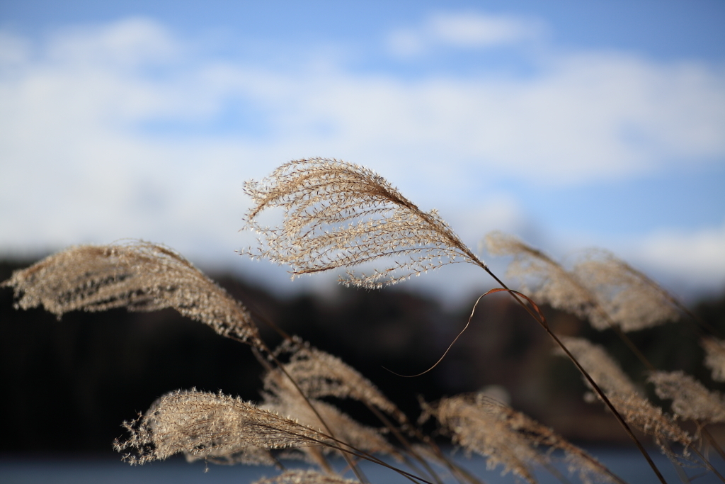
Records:
[[[257,344],[247,308],[168,247],[131,241],[80,245],[15,271],[13,287],[22,309],[43,305],[60,318],[69,311],[157,311],[174,308],[220,335]]]

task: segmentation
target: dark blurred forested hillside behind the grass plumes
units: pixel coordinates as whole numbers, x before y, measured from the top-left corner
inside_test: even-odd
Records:
[[[30,263],[0,263],[0,280]],[[418,395],[432,401],[500,385],[516,409],[569,438],[626,440],[598,403],[584,403],[579,374],[551,355],[542,329],[503,293],[484,298],[442,364],[421,377],[402,378],[392,372],[417,374],[434,364],[463,328],[473,300],[446,311],[435,300],[406,292],[405,284],[372,292],[339,287],[324,299],[281,299],[231,276],[212,274],[212,279],[254,313],[270,346],[280,337],[265,321],[341,357],[413,418]],[[604,344],[631,377],[644,382],[644,368],[613,332],[596,332],[573,316],[544,311],[555,332]],[[703,301],[695,311],[725,333],[725,297]],[[703,370],[699,336],[684,321],[630,336],[658,368],[683,369],[724,390]],[[42,309],[15,310],[7,288],[0,290],[0,358],[2,452],[111,453],[112,440],[123,433],[121,422],[170,390],[196,387],[257,400],[261,388],[262,367],[247,346],[175,311],[78,312],[59,321]],[[362,409],[335,403],[376,424]]]

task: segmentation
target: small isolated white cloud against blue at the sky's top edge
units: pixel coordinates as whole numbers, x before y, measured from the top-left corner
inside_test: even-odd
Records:
[[[538,38],[543,30],[542,22],[509,15],[437,13],[418,28],[394,30],[388,46],[402,56],[423,54],[437,46],[483,49]]]

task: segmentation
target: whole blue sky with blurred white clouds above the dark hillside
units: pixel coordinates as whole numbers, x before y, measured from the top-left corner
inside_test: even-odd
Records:
[[[324,156],[471,247],[595,245],[715,292],[722,25],[721,1],[0,1],[0,252],[135,237],[321,287],[233,250],[253,240],[242,182]]]

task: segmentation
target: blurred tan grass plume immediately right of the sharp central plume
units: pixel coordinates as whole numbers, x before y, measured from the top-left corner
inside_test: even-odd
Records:
[[[532,299],[589,319],[596,329],[610,327],[611,321],[595,296],[548,255],[499,231],[486,235],[486,249],[492,255],[513,255],[507,275],[518,279],[521,292],[528,293]]]

